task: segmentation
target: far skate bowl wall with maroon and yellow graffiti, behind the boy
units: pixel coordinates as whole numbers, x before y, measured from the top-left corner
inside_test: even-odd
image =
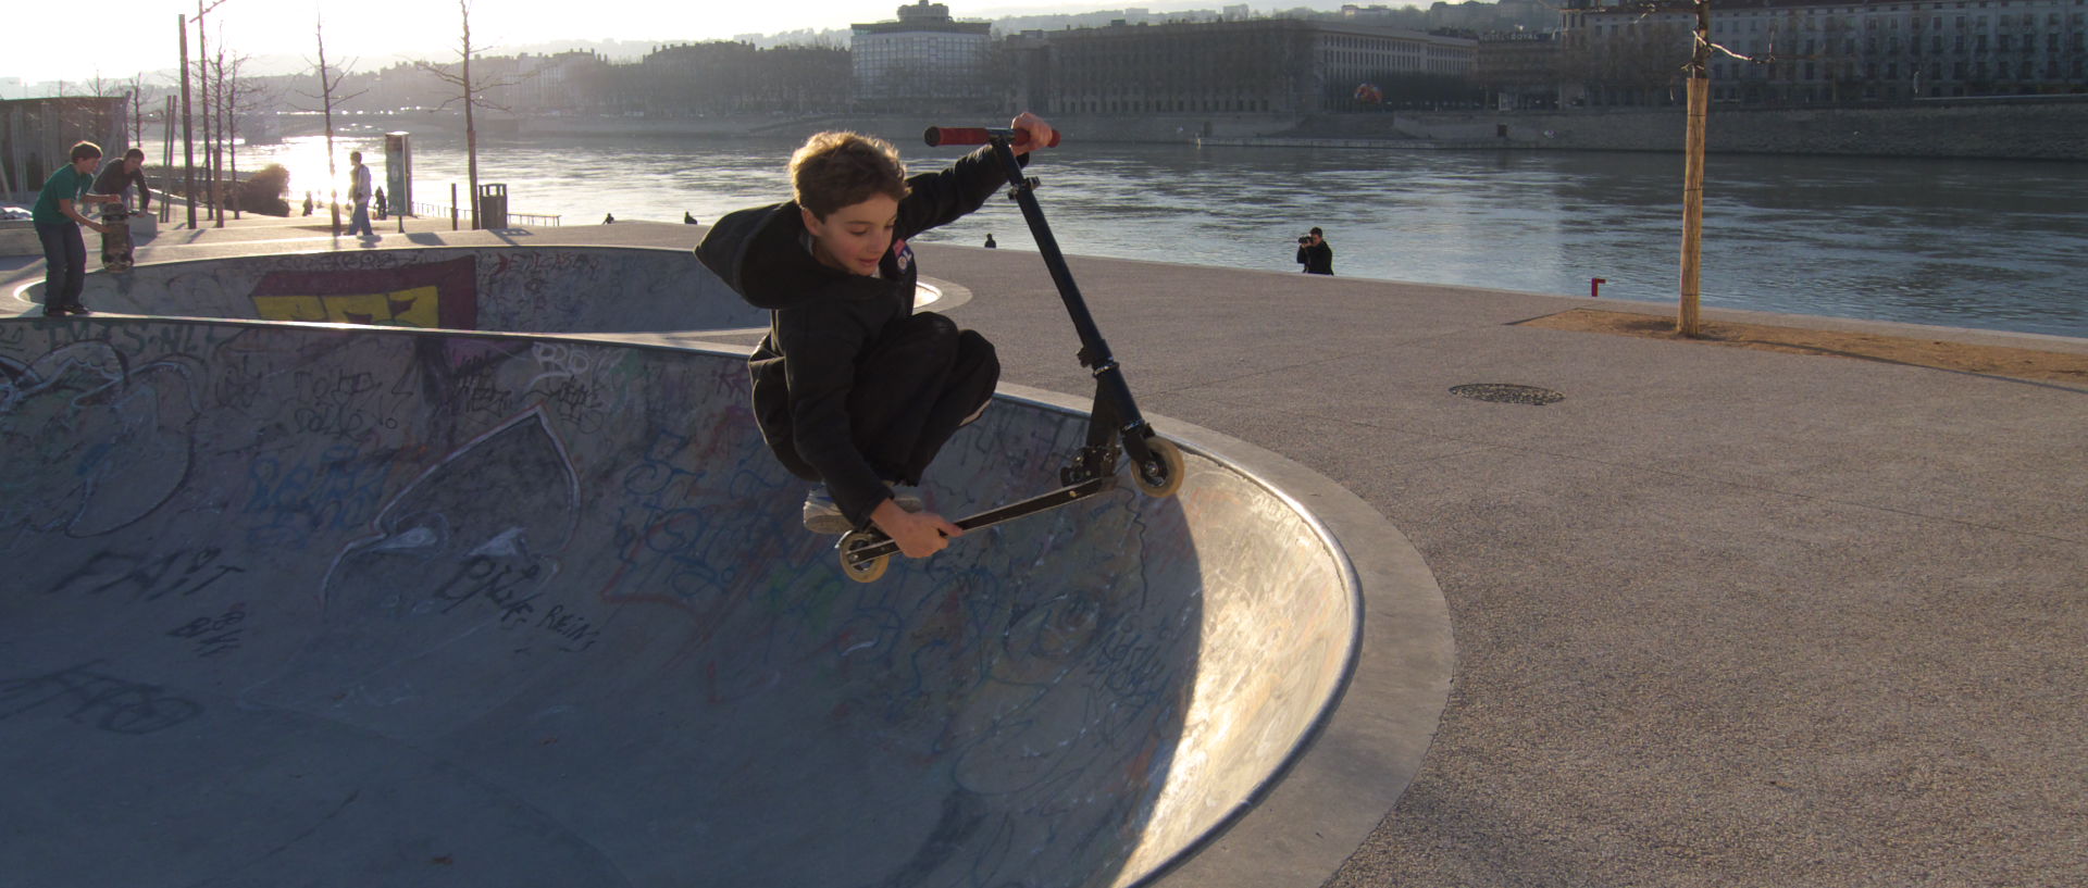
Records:
[[[42,302],[44,283],[17,294]],[[159,317],[622,334],[766,327],[689,250],[441,246],[144,263],[90,273],[96,311]]]

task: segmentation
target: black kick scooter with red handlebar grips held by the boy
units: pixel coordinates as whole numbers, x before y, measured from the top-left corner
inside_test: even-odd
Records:
[[[1059,286],[1059,298],[1073,319],[1073,331],[1079,334],[1079,365],[1094,373],[1094,409],[1088,411],[1088,440],[1059,469],[1061,488],[967,515],[952,523],[965,532],[973,532],[1105,494],[1117,488],[1117,461],[1125,454],[1130,457],[1132,484],[1140,492],[1146,496],[1173,496],[1176,490],[1182,490],[1182,448],[1157,436],[1153,425],[1138,415],[1132,388],[1123,381],[1123,367],[1109,352],[1109,342],[1102,340],[1094,315],[1088,313],[1088,302],[1073,283],[1065,254],[1059,252],[1059,240],[1052,238],[1050,223],[1044,221],[1044,208],[1038,204],[1038,179],[1025,177],[1021,163],[1015,161],[1015,146],[1025,144],[1029,133],[990,127],[929,127],[925,140],[929,146],[992,146],[994,158],[1009,177],[1009,200],[1021,206],[1038,254],[1044,258],[1044,269],[1050,271],[1052,283]],[[1059,144],[1057,138],[1052,144]],[[869,584],[885,575],[900,546],[881,529],[864,527],[844,534],[835,550],[841,554],[841,573]]]

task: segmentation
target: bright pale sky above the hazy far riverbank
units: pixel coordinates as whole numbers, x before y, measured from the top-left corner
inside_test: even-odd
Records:
[[[27,0],[25,0],[27,2]],[[209,6],[211,0],[205,0]],[[1117,0],[1117,2],[1048,2],[1048,0],[942,0],[958,19],[996,19],[1006,15],[1088,13],[1098,8],[1219,8],[1228,0]],[[1238,0],[1230,0],[1238,2]],[[1386,0],[1376,0],[1386,2]],[[1249,0],[1257,10],[1288,6],[1338,6],[1334,2],[1270,2]],[[739,33],[781,33],[798,29],[846,29],[858,21],[889,21],[898,17],[900,0],[470,0],[472,44],[493,54],[501,48],[522,48],[553,40],[635,40],[691,42],[731,40]],[[81,38],[6,40],[0,44],[0,79],[23,83],[54,79],[88,81],[100,71],[109,79],[127,79],[138,71],[171,71],[180,65],[182,46],[175,35],[180,15],[194,19],[194,0],[113,0],[38,6],[23,10],[21,21],[50,21],[50,10],[63,8]],[[25,19],[27,17],[27,19]],[[326,23],[326,58],[363,60],[361,69],[390,65],[390,56],[449,60],[455,58],[461,35],[457,0],[219,0],[205,17],[209,40],[230,52],[248,56],[317,58],[315,29]],[[38,33],[52,33],[38,27]],[[194,27],[190,27],[194,52]],[[284,71],[288,73],[288,71]],[[73,94],[75,90],[67,90]],[[0,98],[21,98],[0,88]]]

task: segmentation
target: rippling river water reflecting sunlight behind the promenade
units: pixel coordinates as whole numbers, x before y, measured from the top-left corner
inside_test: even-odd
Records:
[[[789,194],[793,140],[480,140],[480,181],[566,225],[702,221]],[[382,138],[338,140],[382,171]],[[159,156],[159,146],[146,146]],[[954,150],[900,142],[912,169]],[[324,138],[242,148],[282,163],[292,204],[326,181]],[[459,138],[413,138],[422,204],[464,192]],[[1668,300],[1679,292],[1681,154],[1079,144],[1029,173],[1071,254],[1297,271],[1326,229],[1338,275]],[[1034,248],[994,198],[921,240]],[[1040,271],[1042,273],[1042,271]],[[1704,304],[2088,336],[2088,167],[2032,161],[1712,156]],[[1274,294],[1272,294],[1274,296]]]

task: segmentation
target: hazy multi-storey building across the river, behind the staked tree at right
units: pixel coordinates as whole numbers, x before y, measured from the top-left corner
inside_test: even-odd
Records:
[[[1589,104],[1666,104],[1681,92],[1689,4],[1568,0],[1562,79]],[[1894,102],[2088,92],[2084,0],[1750,0],[1712,6],[1712,100]]]

